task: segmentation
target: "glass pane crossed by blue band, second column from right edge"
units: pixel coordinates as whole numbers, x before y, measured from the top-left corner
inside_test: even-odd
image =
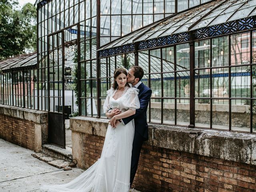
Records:
[[[231,68],[231,97],[250,97],[250,76],[247,66]]]

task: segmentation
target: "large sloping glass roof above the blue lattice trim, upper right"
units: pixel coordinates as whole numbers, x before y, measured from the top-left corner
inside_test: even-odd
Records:
[[[102,46],[99,50],[190,32],[255,15],[256,0],[216,0],[145,26]]]

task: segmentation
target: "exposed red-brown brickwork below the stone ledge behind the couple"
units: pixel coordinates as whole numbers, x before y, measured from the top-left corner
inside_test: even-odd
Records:
[[[84,168],[100,158],[104,137],[84,135]],[[256,166],[144,144],[132,185],[141,192],[255,192]]]

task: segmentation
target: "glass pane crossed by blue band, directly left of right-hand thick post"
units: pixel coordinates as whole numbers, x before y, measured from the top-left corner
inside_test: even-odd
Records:
[[[190,93],[190,75],[189,72],[177,72],[177,96],[178,98],[188,98]]]

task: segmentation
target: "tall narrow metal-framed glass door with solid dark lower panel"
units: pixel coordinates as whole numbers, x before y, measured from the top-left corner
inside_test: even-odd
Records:
[[[48,35],[48,142],[65,148],[64,30]]]

